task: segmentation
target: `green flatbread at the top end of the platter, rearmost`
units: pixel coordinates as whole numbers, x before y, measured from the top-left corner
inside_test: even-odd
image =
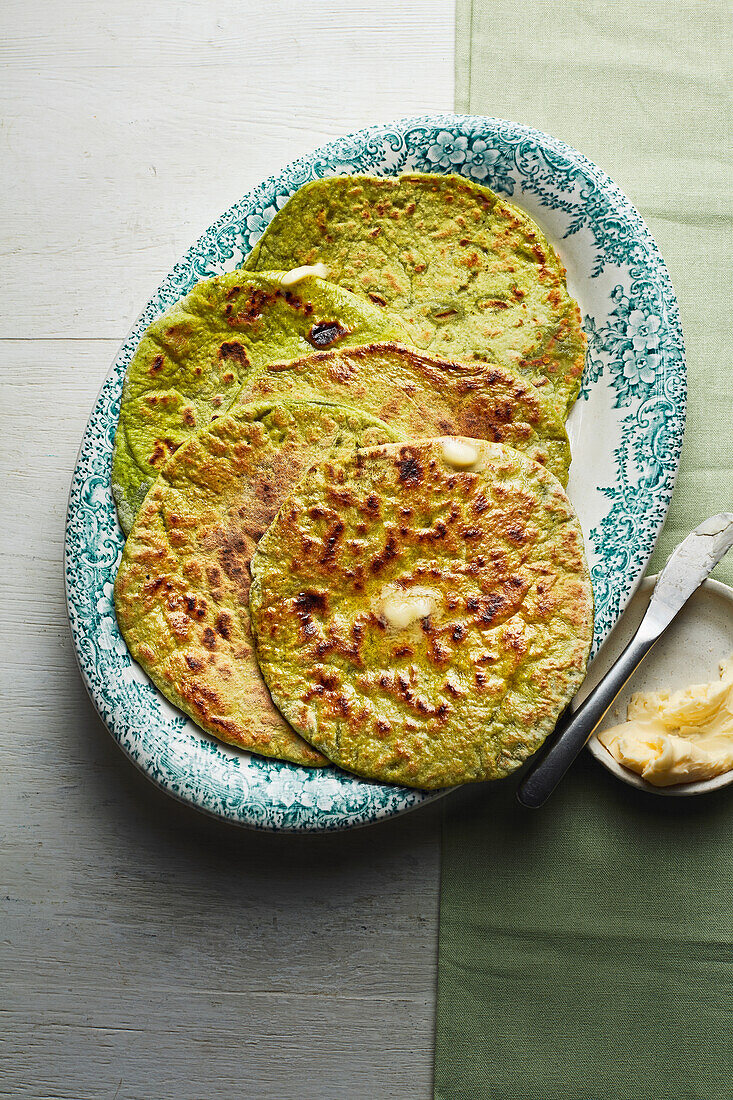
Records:
[[[339,176],[293,195],[247,260],[251,271],[316,261],[400,315],[411,342],[508,366],[567,416],[586,339],[565,268],[528,215],[460,176]]]

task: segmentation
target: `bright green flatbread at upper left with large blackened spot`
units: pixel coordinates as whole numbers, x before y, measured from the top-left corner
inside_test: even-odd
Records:
[[[199,283],[149,327],[128,367],[112,458],[127,534],[163,463],[226,413],[252,369],[314,349],[405,339],[398,320],[320,278],[231,272]]]

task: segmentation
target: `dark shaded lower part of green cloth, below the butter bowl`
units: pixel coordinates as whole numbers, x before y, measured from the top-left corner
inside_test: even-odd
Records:
[[[589,755],[444,826],[436,1097],[730,1100],[733,794],[661,799]]]

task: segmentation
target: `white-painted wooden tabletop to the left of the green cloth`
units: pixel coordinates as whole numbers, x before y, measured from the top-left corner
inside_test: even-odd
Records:
[[[249,187],[451,109],[452,0],[4,0],[0,1097],[430,1093],[440,807],[266,836],[167,800],[79,680],[62,543],[119,343]]]

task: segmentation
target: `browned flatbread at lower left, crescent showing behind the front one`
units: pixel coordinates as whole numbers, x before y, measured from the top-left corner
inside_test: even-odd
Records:
[[[395,438],[352,409],[260,404],[220,417],[163,466],[125,542],[114,607],[133,658],[215,737],[296,763],[325,762],[277,713],[260,675],[250,558],[314,462]]]

